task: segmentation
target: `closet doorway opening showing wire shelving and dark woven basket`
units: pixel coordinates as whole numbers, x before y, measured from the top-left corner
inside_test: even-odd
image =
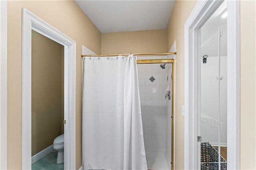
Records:
[[[224,1],[201,27],[201,170],[227,168],[227,4]],[[200,100],[200,101],[199,101]],[[200,133],[199,133],[200,132]],[[210,153],[210,154],[209,154]]]

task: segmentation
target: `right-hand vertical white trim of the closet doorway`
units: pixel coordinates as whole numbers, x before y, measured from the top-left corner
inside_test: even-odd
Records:
[[[240,2],[227,1],[227,168],[240,169]]]

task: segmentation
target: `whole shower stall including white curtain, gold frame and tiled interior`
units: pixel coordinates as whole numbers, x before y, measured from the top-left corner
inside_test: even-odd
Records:
[[[172,169],[174,59],[167,54],[83,57],[84,169]]]

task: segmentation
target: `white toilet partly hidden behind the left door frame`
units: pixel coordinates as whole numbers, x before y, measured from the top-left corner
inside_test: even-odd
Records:
[[[53,149],[58,151],[57,164],[63,163],[64,162],[64,134],[54,139]]]

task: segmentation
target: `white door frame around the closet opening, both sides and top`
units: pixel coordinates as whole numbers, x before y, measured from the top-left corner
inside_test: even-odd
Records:
[[[200,111],[200,28],[223,1],[198,1],[184,25],[184,169],[198,164],[198,111]],[[240,168],[240,3],[227,1],[227,167]],[[200,148],[199,148],[200,149]]]

